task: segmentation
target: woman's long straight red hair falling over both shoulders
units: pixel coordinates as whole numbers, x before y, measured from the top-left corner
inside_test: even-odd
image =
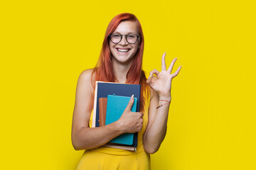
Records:
[[[92,86],[95,89],[95,81],[109,81],[115,82],[117,81],[114,76],[114,71],[112,68],[111,61],[111,52],[109,45],[109,35],[117,29],[119,23],[122,21],[134,21],[137,24],[137,28],[140,34],[140,42],[139,42],[139,50],[134,56],[134,60],[132,62],[129,71],[127,72],[127,81],[126,84],[141,84],[141,99],[140,99],[140,111],[144,111],[145,101],[148,97],[146,94],[149,94],[149,86],[146,84],[146,76],[144,71],[142,70],[142,56],[144,51],[144,35],[142,32],[142,26],[139,23],[139,20],[132,13],[120,13],[115,16],[112,21],[110,21],[107,26],[107,30],[105,33],[105,38],[102,44],[102,50],[100,52],[100,58],[96,64],[95,69],[93,69],[92,75]]]

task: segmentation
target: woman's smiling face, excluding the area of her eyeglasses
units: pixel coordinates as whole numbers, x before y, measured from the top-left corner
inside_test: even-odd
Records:
[[[134,55],[136,55],[139,47],[140,38],[134,44],[129,44],[125,38],[125,35],[133,33],[139,35],[137,29],[137,24],[133,21],[123,21],[119,23],[117,29],[113,33],[119,33],[122,36],[122,40],[114,44],[110,40],[110,52],[112,54],[112,62],[117,62],[119,64],[130,64]]]

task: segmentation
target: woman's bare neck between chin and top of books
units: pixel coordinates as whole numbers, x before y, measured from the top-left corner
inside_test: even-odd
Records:
[[[127,63],[119,63],[114,58],[112,58],[112,67],[114,71],[114,76],[117,78],[119,83],[125,83],[127,81],[127,72],[132,65],[132,61]]]

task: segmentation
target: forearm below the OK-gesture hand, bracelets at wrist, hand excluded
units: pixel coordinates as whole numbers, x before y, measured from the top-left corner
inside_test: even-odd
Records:
[[[166,101],[171,102],[171,97],[167,98],[160,96],[159,98],[164,98],[165,101],[159,101],[158,106],[160,107],[156,109],[154,120],[144,134],[144,149],[150,154],[153,154],[159,149],[167,130],[170,103]]]

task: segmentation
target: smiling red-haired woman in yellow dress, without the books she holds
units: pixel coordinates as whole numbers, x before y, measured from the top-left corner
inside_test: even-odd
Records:
[[[174,59],[161,72],[156,69],[146,79],[142,70],[144,35],[136,16],[121,13],[110,21],[95,69],[80,74],[73,113],[72,142],[75,150],[85,149],[77,169],[150,169],[150,154],[156,152],[166,135]],[[121,118],[110,125],[90,128],[95,81],[141,84],[140,112],[131,112],[131,97]],[[122,133],[138,132],[137,152],[102,147]]]

